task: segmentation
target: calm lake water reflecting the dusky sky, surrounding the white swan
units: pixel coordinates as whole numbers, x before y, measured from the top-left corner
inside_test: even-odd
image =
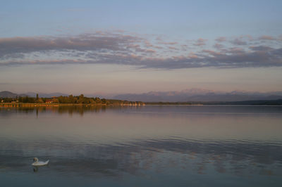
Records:
[[[0,108],[0,186],[282,186],[282,107]]]

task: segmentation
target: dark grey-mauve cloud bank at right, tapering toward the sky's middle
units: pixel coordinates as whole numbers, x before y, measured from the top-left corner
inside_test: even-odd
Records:
[[[193,53],[181,59],[152,59],[145,63],[145,67],[177,69],[189,67],[271,67],[282,66],[282,48],[271,51],[243,51],[230,49],[227,53],[203,51]]]

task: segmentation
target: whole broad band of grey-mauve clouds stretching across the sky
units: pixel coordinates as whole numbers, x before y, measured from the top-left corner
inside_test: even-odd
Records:
[[[161,41],[156,46],[154,40],[124,32],[0,38],[0,65],[117,64],[160,69],[282,66],[282,48],[271,46],[271,41],[249,46],[245,38],[238,37],[231,40],[235,46],[227,48],[216,43],[219,39],[211,46],[202,38],[190,46],[185,40]]]

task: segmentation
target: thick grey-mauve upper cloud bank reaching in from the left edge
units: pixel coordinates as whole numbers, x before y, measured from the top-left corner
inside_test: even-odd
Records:
[[[124,51],[125,47],[138,41],[137,37],[128,35],[88,36],[46,38],[14,37],[0,39],[0,58],[10,54],[44,51]]]

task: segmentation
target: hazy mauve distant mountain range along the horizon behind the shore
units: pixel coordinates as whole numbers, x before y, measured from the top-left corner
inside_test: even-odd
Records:
[[[35,97],[36,93],[28,92],[23,94],[12,93],[11,91],[0,91],[0,97],[16,98],[16,96]],[[52,96],[68,96],[66,93],[39,93],[39,97],[51,98]],[[88,97],[97,97],[87,94]],[[100,98],[109,98],[109,96],[99,96]],[[247,91],[211,91],[207,89],[185,89],[183,91],[150,91],[147,93],[126,93],[112,95],[111,98],[126,101],[143,102],[233,102],[233,101],[271,101],[282,99],[282,91],[276,92],[247,92]]]

